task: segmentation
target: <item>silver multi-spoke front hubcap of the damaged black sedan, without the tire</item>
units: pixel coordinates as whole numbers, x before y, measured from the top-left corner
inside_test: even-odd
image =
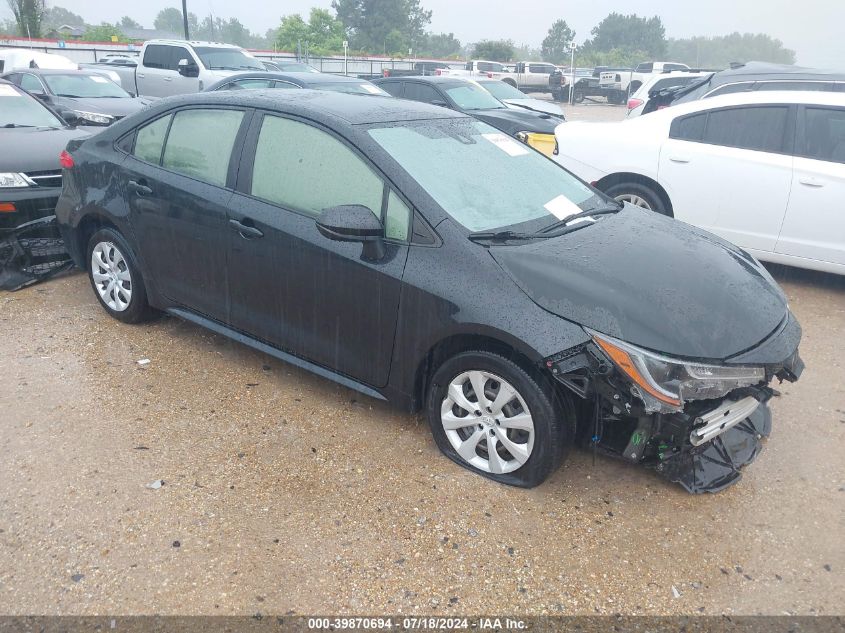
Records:
[[[513,472],[531,457],[534,420],[519,392],[486,371],[467,371],[449,383],[440,421],[458,455],[479,470]]]

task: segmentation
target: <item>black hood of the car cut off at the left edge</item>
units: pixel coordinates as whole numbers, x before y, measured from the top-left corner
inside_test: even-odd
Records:
[[[0,128],[0,147],[15,148],[0,152],[0,172],[59,169],[59,154],[68,142],[90,135],[72,128]]]

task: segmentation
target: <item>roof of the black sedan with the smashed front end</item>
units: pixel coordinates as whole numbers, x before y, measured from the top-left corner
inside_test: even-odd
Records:
[[[200,92],[162,99],[151,109],[166,110],[183,105],[265,108],[327,125],[466,118],[459,112],[421,102],[308,89]]]

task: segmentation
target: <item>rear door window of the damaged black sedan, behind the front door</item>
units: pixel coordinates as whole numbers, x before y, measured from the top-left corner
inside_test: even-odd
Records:
[[[203,108],[182,110],[173,117],[162,166],[211,185],[223,187],[244,113]]]

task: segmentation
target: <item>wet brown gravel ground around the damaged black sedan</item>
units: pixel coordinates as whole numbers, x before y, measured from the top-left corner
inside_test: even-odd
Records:
[[[807,370],[704,496],[584,451],[507,488],[420,416],[110,319],[80,273],[0,294],[0,613],[841,614],[845,278],[772,270]]]

